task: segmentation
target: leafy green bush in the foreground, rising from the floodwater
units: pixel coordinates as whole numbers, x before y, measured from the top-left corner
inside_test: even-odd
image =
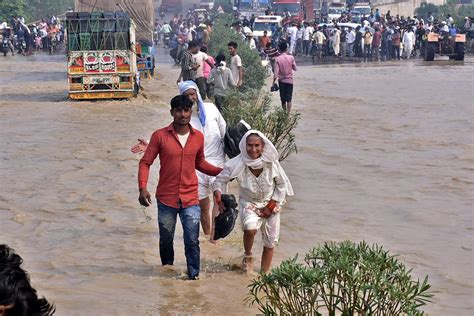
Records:
[[[433,292],[378,245],[326,242],[260,274],[248,302],[265,315],[423,315]]]

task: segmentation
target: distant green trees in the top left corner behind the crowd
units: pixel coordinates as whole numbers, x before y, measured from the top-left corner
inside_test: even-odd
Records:
[[[0,18],[23,16],[26,22],[40,20],[51,15],[60,15],[74,6],[74,0],[7,0],[0,1]]]

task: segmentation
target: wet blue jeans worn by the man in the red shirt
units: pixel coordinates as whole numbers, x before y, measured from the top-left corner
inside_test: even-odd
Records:
[[[188,277],[194,279],[199,276],[200,266],[199,223],[201,208],[199,205],[173,208],[159,201],[157,204],[161,263],[172,265],[174,262],[174,230],[176,228],[176,218],[179,214],[183,226],[184,254],[186,255]]]

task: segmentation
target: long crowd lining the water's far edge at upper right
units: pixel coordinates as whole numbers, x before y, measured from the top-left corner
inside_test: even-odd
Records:
[[[269,12],[269,14],[274,14]],[[351,23],[351,13],[344,13],[330,23],[287,20],[284,27],[272,26],[257,41],[253,37],[252,25],[255,17],[236,22],[234,27],[249,47],[264,52],[267,43],[277,47],[285,40],[289,43],[288,53],[294,56],[364,58],[367,61],[400,60],[423,54],[428,33],[455,35],[472,29],[472,19],[465,17],[464,24],[454,24],[451,15],[444,20],[436,19],[432,13],[422,17],[392,16],[390,11],[381,14],[378,9],[368,16],[360,17],[360,23]]]

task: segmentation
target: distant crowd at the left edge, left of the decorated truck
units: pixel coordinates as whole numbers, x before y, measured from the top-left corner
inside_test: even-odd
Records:
[[[2,41],[8,44],[12,55],[30,55],[35,51],[53,53],[64,42],[64,27],[56,16],[44,18],[34,23],[25,23],[21,16],[12,16],[0,23]]]

